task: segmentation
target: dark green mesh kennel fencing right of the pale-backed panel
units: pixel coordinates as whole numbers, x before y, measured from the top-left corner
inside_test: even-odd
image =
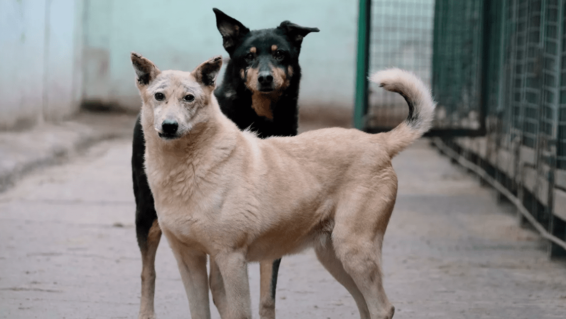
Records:
[[[486,112],[484,137],[445,143],[512,192],[551,256],[566,255],[565,16],[565,0],[438,0],[432,66],[442,125]]]

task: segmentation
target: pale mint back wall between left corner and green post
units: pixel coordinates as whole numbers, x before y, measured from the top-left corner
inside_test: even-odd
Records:
[[[250,29],[283,20],[320,28],[303,41],[301,105],[351,108],[354,101],[357,1],[98,0],[85,3],[87,101],[139,108],[131,51],[161,69],[192,70],[216,54],[228,56],[212,7]]]

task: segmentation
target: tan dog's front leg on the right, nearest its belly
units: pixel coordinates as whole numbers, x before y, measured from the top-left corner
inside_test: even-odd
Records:
[[[222,319],[251,319],[250,283],[246,254],[221,252],[214,257],[224,280],[228,316]]]

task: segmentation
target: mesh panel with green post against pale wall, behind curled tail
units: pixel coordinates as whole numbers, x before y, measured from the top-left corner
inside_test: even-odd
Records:
[[[354,126],[387,130],[407,115],[402,97],[367,82],[387,67],[410,70],[430,83],[434,0],[360,2]]]

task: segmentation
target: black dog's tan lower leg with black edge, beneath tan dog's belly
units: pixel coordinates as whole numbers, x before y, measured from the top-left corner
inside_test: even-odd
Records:
[[[259,263],[259,317],[261,319],[275,319],[275,290],[280,263],[281,258]]]

